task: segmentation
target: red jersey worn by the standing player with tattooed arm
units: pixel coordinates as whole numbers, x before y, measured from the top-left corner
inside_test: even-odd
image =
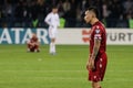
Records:
[[[94,38],[101,40],[100,50],[98,56],[106,51],[106,32],[104,25],[99,21],[91,28],[91,40],[90,40],[90,54],[93,52]]]

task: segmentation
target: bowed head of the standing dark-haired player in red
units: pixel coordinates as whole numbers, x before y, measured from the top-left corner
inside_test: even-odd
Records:
[[[86,23],[90,23],[93,19],[99,16],[99,11],[95,7],[90,7],[85,11],[84,20]]]

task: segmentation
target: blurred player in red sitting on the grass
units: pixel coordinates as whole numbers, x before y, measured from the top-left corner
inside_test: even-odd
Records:
[[[28,52],[40,52],[40,48],[39,48],[40,43],[35,33],[32,34],[32,37],[27,43],[27,45],[28,45]]]

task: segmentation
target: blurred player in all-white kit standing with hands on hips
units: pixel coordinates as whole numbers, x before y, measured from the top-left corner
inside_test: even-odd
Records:
[[[44,22],[49,25],[49,37],[51,40],[50,42],[50,54],[55,54],[55,37],[57,37],[57,31],[60,26],[60,20],[58,14],[58,8],[53,7],[52,11],[47,15]]]

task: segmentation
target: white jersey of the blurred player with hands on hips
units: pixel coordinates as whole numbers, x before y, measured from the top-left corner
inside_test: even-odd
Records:
[[[50,12],[44,22],[49,24],[49,29],[57,30],[60,26],[60,19],[58,13]]]

